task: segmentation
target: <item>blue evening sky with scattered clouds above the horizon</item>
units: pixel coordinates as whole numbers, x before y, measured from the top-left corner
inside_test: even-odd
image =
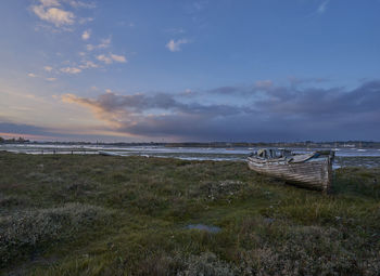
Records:
[[[3,0],[0,136],[380,141],[380,0]]]

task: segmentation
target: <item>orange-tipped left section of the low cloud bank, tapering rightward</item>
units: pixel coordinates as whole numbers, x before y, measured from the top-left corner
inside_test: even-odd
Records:
[[[115,131],[149,136],[165,133],[179,136],[178,132],[181,132],[186,126],[189,129],[197,124],[204,126],[207,121],[220,116],[235,116],[249,110],[249,108],[228,105],[183,104],[165,93],[117,95],[107,91],[97,100],[65,94],[62,101],[89,108],[96,118],[104,121]],[[170,123],[174,124],[169,126]]]

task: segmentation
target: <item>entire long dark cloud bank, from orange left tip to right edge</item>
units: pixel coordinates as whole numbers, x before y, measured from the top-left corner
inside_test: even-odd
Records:
[[[379,140],[380,81],[344,88],[221,87],[202,95],[229,95],[231,101],[204,104],[167,93],[117,95],[97,100],[64,95],[88,108],[113,130],[143,137],[182,141]],[[233,101],[233,98],[236,101]],[[225,102],[223,102],[225,101]],[[241,103],[244,104],[241,104]],[[240,103],[240,104],[237,104]]]

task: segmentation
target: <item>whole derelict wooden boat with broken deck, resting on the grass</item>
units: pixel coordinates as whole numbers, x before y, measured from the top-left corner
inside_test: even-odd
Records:
[[[333,150],[292,154],[290,150],[259,149],[248,157],[250,169],[299,186],[328,193],[332,182]]]

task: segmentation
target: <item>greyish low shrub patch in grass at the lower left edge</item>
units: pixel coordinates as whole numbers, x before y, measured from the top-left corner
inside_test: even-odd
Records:
[[[16,212],[0,218],[0,263],[5,266],[30,252],[72,237],[80,228],[103,220],[110,211],[67,203],[59,208]]]

